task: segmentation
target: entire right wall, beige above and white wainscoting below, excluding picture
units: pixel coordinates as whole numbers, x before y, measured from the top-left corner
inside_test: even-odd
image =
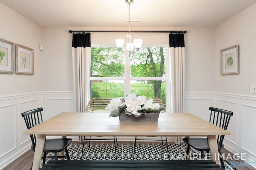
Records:
[[[215,84],[218,107],[234,111],[226,136],[226,148],[233,153],[246,153],[248,161],[256,160],[256,4],[216,27]],[[220,75],[220,50],[239,45],[239,74]],[[256,164],[252,164],[256,167]]]

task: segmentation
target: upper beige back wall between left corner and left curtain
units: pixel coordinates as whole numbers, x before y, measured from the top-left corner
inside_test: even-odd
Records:
[[[42,91],[72,91],[72,36],[63,28],[42,28]]]

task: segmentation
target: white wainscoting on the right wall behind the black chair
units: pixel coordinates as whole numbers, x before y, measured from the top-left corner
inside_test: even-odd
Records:
[[[217,107],[234,111],[224,139],[225,149],[246,154],[246,161],[256,160],[256,96],[216,92]],[[256,168],[256,164],[251,164]]]

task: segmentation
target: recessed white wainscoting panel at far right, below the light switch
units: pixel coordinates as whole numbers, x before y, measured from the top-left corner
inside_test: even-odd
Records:
[[[256,105],[242,104],[241,148],[256,156]]]

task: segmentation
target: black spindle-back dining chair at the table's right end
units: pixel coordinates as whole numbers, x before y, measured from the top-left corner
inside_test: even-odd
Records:
[[[214,107],[210,107],[209,110],[210,110],[209,122],[224,130],[227,130],[230,117],[233,115],[233,111],[218,109]],[[218,151],[220,154],[220,162],[222,164],[222,168],[225,169],[224,161],[220,152],[220,150],[224,148],[224,144],[223,144],[224,136],[225,135],[218,135],[217,143],[218,143]],[[209,153],[210,151],[207,138],[186,138],[185,137],[182,139],[182,141],[184,141],[188,145],[188,148],[186,150],[187,155],[190,151],[190,147],[201,151],[201,158],[204,158],[204,151],[206,151],[206,153]]]

